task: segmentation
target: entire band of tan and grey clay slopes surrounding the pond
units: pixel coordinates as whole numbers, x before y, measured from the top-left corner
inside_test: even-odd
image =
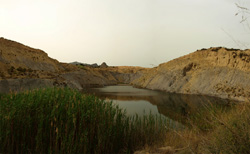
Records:
[[[60,63],[42,50],[0,38],[0,93],[52,86],[82,90],[119,83],[249,101],[250,49],[202,49],[155,68],[89,67]]]

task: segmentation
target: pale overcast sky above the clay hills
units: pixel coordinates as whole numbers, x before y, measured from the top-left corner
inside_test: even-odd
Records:
[[[250,0],[0,0],[0,37],[60,62],[154,67],[201,48],[250,48],[235,3],[250,9]]]

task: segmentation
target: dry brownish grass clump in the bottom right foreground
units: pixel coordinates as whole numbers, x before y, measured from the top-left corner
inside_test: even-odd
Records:
[[[192,127],[183,132],[177,132],[175,136],[179,137],[175,137],[175,140],[179,138],[185,141],[182,147],[186,145],[191,153],[250,153],[250,105],[248,103],[234,104],[230,110],[208,106],[203,113],[197,113],[192,117],[190,124]],[[178,145],[180,143],[173,146]]]

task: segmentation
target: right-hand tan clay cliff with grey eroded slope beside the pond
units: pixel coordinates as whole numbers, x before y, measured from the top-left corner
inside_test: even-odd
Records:
[[[135,86],[240,101],[250,99],[250,50],[210,48],[163,63],[132,81]]]

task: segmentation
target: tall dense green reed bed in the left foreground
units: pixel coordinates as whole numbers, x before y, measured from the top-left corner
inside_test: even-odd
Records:
[[[68,88],[0,95],[0,153],[130,153],[164,141],[166,127]]]

